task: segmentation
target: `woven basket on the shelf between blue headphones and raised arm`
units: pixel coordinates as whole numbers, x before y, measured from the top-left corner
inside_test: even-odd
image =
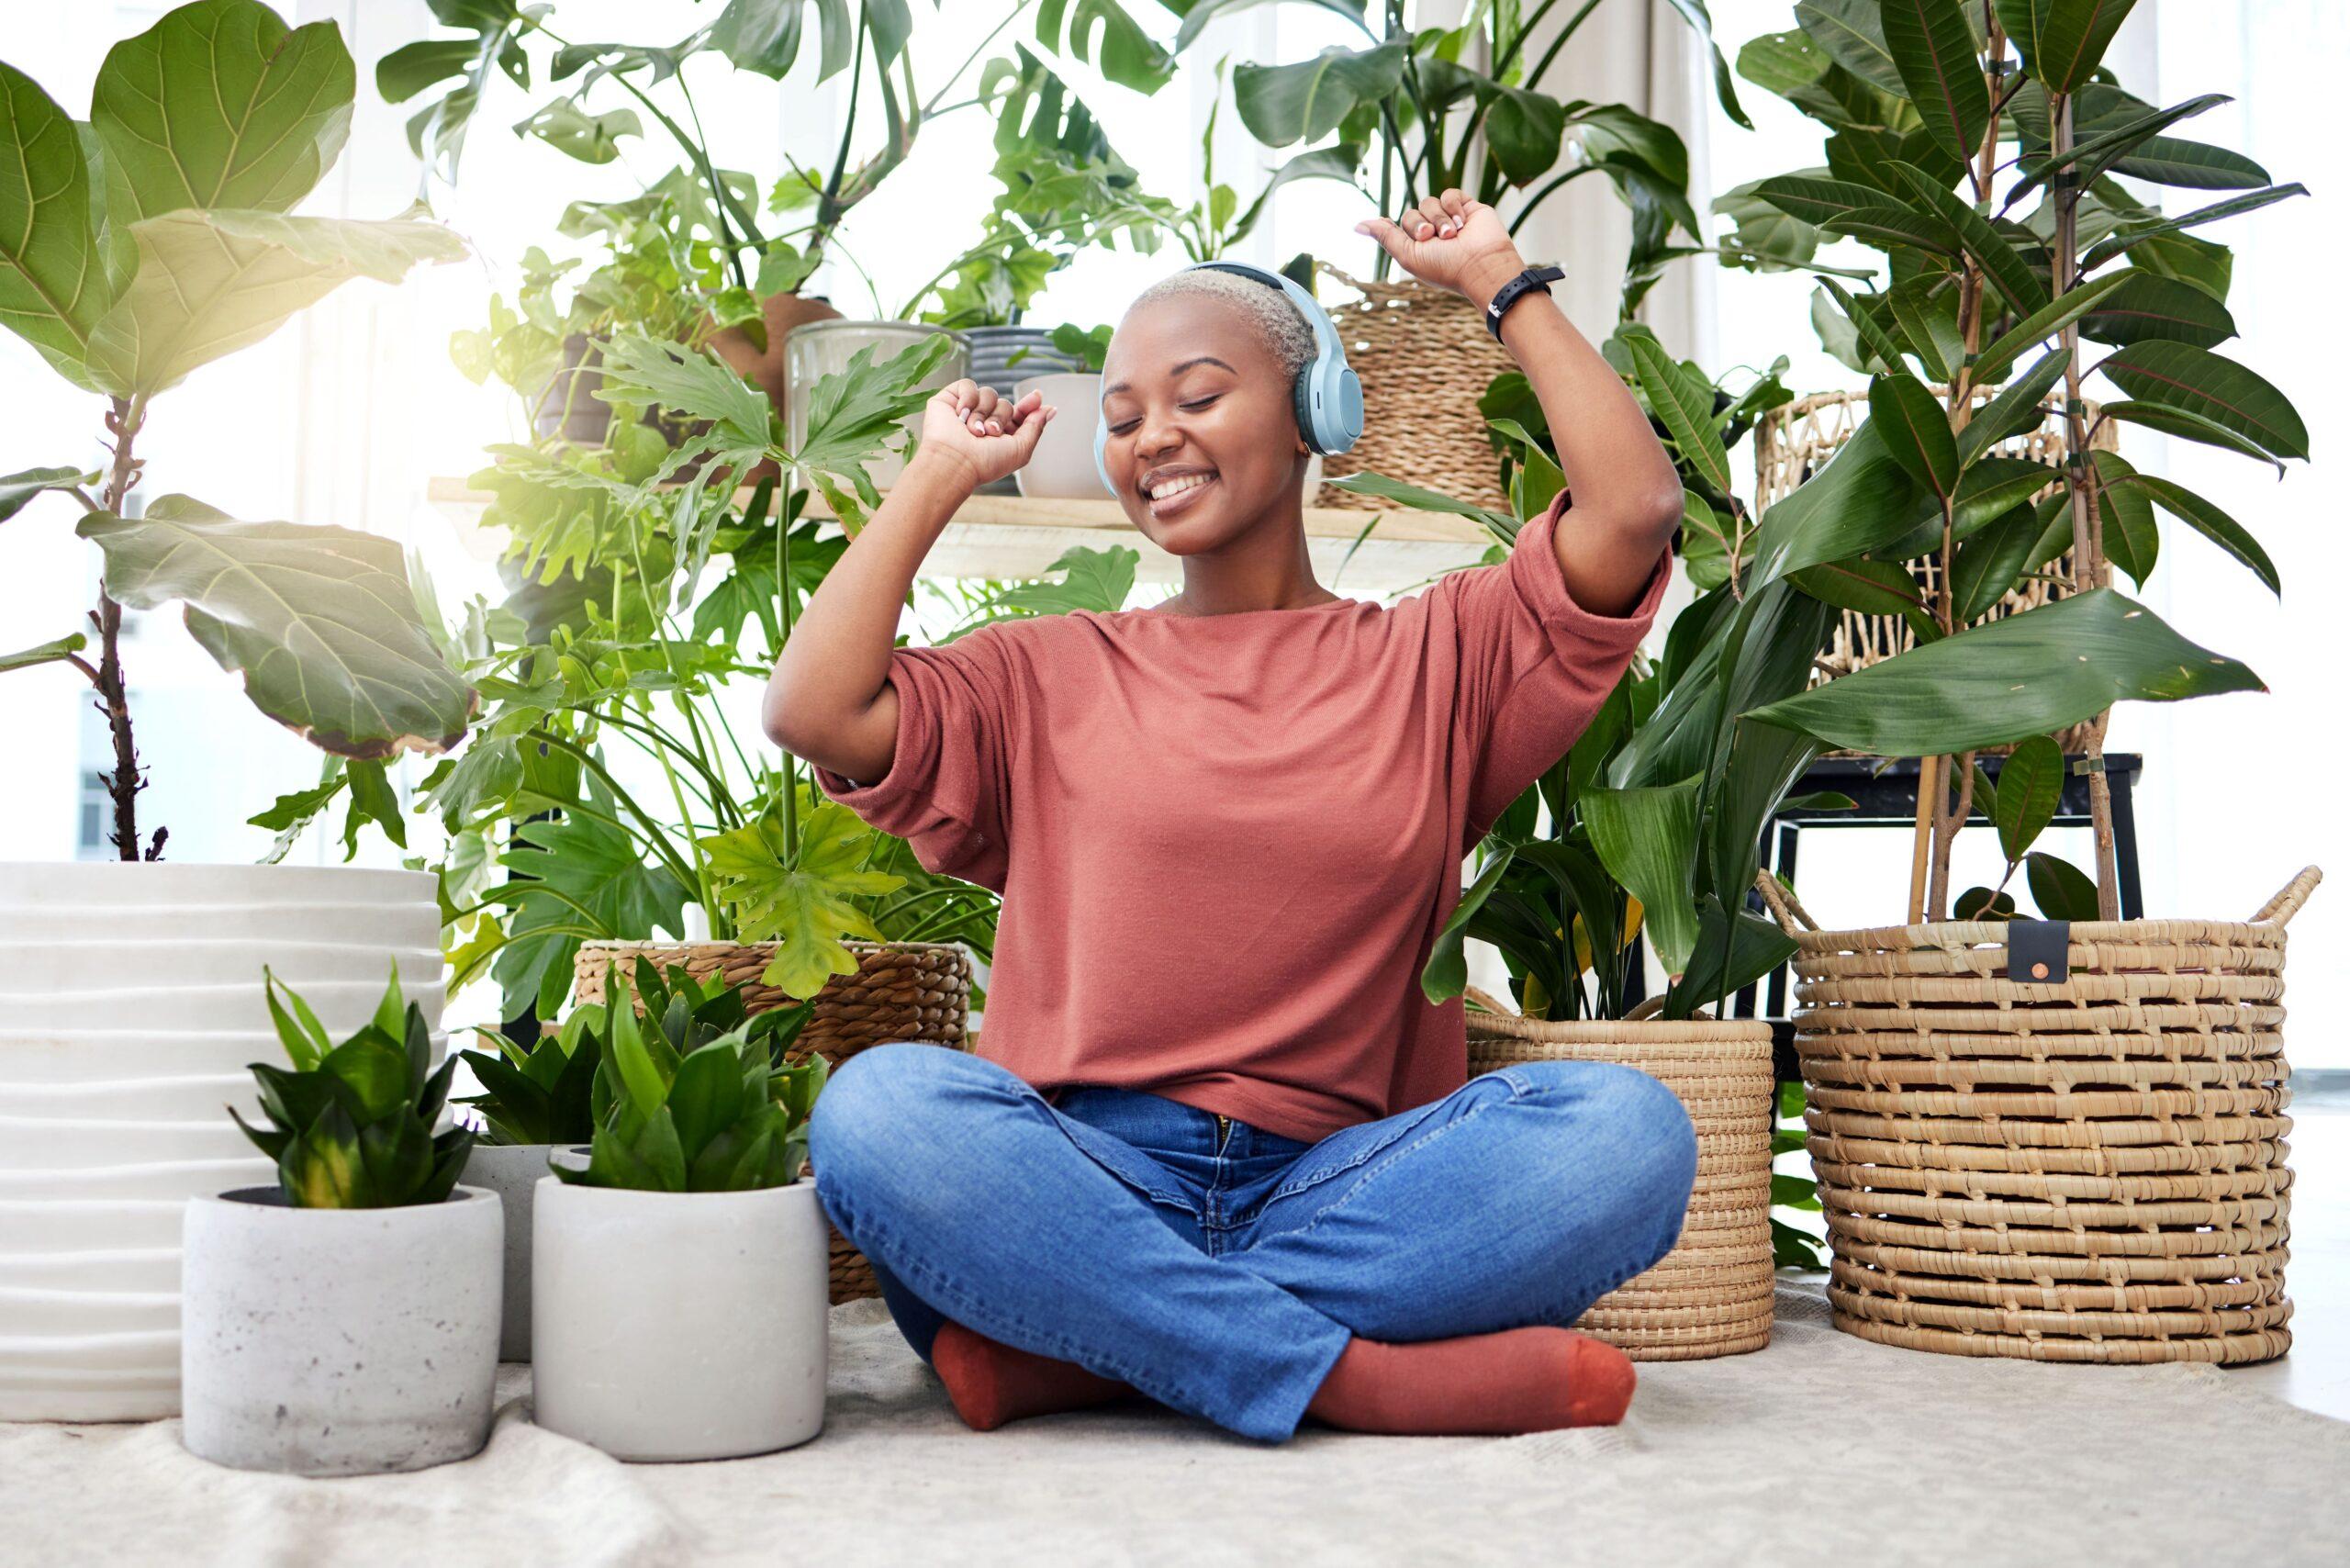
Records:
[[[1394,505],[1328,484],[1340,475],[1377,470],[1506,512],[1502,454],[1476,404],[1492,378],[1518,369],[1518,362],[1485,331],[1478,308],[1417,277],[1368,282],[1328,261],[1316,261],[1314,270],[1361,296],[1332,303],[1330,322],[1347,348],[1347,364],[1363,381],[1363,435],[1347,451],[1323,458],[1323,489],[1314,505],[1361,512]]]

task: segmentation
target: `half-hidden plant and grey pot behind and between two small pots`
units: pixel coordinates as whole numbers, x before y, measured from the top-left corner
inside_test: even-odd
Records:
[[[531,1359],[531,1197],[555,1150],[595,1138],[590,1091],[604,1060],[602,1020],[602,1009],[578,1009],[533,1046],[501,1037],[498,1051],[458,1053],[482,1084],[482,1093],[456,1100],[482,1119],[465,1182],[494,1192],[505,1211],[501,1361]]]

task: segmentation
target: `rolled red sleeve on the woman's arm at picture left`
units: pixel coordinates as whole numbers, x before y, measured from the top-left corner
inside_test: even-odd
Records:
[[[907,842],[942,877],[1003,891],[1010,872],[1010,764],[1020,656],[1008,623],[938,646],[891,649],[898,743],[888,771],[858,783],[813,766],[825,795]]]

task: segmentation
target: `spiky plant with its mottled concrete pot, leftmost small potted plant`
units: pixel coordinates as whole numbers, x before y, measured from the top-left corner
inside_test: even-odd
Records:
[[[181,1382],[188,1453],[235,1469],[357,1476],[482,1450],[498,1378],[498,1199],[435,1131],[454,1060],[400,973],[336,1041],[266,976],[289,1067],[254,1063],[273,1187],[193,1199]],[[282,992],[282,994],[280,994]]]

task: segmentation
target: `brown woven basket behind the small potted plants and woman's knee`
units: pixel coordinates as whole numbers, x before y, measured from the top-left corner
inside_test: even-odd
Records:
[[[804,1063],[822,1053],[834,1070],[865,1046],[916,1039],[954,1051],[971,1048],[971,954],[954,943],[844,943],[858,971],[832,976],[815,994],[815,1016],[792,1041],[787,1058]],[[776,943],[583,943],[571,964],[573,994],[604,1001],[613,959],[634,969],[637,957],[656,969],[684,966],[696,980],[724,976],[743,987],[752,1013],[794,1006],[792,997],[759,980],[776,959]],[[879,1295],[872,1262],[830,1220],[832,1302]]]

